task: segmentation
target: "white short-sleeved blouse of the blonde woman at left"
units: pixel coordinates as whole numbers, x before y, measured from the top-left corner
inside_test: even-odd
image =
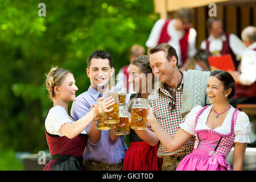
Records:
[[[60,137],[65,136],[60,131],[60,127],[64,123],[73,122],[71,118],[69,118],[68,113],[62,106],[54,106],[49,110],[49,113],[46,117],[46,131],[49,134],[59,135]]]

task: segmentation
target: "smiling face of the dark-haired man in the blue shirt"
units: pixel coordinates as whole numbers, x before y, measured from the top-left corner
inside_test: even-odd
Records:
[[[86,69],[90,78],[90,86],[94,89],[108,89],[110,77],[114,73],[114,68],[110,68],[108,59],[93,58],[90,62],[90,68]]]

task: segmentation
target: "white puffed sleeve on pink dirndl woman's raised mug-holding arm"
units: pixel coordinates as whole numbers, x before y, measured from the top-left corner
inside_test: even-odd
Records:
[[[196,113],[202,109],[202,106],[197,105],[194,107],[183,119],[183,123],[180,123],[180,128],[184,131],[187,131],[189,134],[194,135],[194,126],[195,126],[195,119]]]

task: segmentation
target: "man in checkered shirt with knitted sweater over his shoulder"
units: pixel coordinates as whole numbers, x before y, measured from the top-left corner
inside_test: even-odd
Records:
[[[159,88],[152,92],[148,97],[148,104],[152,107],[155,117],[158,119],[158,122],[162,125],[163,129],[166,130],[168,134],[174,136],[176,131],[179,129],[180,123],[183,122],[183,118],[185,117],[184,113],[181,114],[181,100],[183,94],[185,94],[184,78],[187,78],[187,82],[185,83],[187,85],[189,85],[189,79],[192,80],[189,82],[197,82],[198,84],[198,81],[195,80],[196,77],[191,75],[195,75],[195,73],[197,73],[200,77],[203,77],[201,75],[203,75],[204,72],[193,70],[186,73],[179,71],[177,53],[170,44],[159,44],[150,50],[150,54],[152,72],[159,78],[161,83]],[[202,106],[205,105],[207,100],[207,84],[204,80],[208,80],[208,75],[200,82],[201,85],[205,84],[205,86],[198,86],[196,89],[189,90],[187,89],[187,86],[185,91],[191,92],[192,95],[200,94],[201,97],[203,97],[203,99],[201,99],[203,101],[200,102],[200,105]],[[192,87],[194,88],[195,86]],[[201,93],[205,94],[202,96]],[[190,103],[187,102],[188,100],[190,100],[190,98],[186,97],[185,100],[183,98],[183,105]],[[191,100],[193,100],[193,97],[191,97]],[[197,102],[197,105],[198,103],[199,102]],[[189,107],[190,110],[192,108],[193,107]],[[144,131],[136,130],[136,133],[145,142],[150,144],[153,140],[156,140],[157,134],[150,131],[152,130],[150,126],[148,129]],[[158,157],[163,158],[162,170],[175,170],[184,156],[192,152],[194,143],[195,137],[192,137],[187,143],[174,152],[169,152],[166,147],[160,143],[158,148]]]

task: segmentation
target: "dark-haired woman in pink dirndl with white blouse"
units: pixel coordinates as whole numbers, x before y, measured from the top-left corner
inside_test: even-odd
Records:
[[[170,152],[181,147],[192,135],[196,137],[192,153],[181,160],[177,171],[231,171],[226,156],[233,146],[233,170],[242,170],[245,149],[250,143],[250,121],[244,112],[229,105],[234,93],[234,79],[229,73],[211,72],[207,94],[213,105],[194,107],[174,137],[163,130],[150,108],[148,122]]]

